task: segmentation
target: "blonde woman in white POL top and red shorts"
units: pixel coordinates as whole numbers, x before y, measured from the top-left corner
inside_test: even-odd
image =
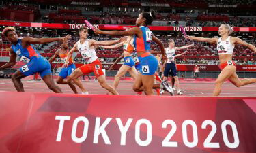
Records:
[[[246,78],[240,80],[236,74],[236,63],[232,60],[233,49],[235,48],[236,44],[246,46],[253,50],[253,52],[256,52],[256,48],[252,44],[248,44],[246,41],[242,41],[238,37],[229,36],[232,32],[233,29],[229,26],[229,24],[221,24],[221,26],[218,28],[218,35],[221,36],[219,38],[194,37],[190,35],[185,36],[186,39],[217,44],[221,73],[218,75],[215,82],[213,96],[220,95],[221,86],[227,79],[229,79],[229,81],[237,87],[256,82],[256,78]]]

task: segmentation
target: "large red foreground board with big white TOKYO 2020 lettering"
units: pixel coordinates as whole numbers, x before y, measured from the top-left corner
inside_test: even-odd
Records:
[[[256,152],[255,97],[0,97],[4,153]]]

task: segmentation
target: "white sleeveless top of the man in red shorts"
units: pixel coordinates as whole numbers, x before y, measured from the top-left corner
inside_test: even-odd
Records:
[[[83,44],[80,43],[80,40],[77,41],[77,50],[79,50],[86,63],[92,63],[98,59],[95,49],[89,48],[89,39],[86,39]]]

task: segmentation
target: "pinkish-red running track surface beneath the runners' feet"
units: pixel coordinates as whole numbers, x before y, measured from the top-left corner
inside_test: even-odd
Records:
[[[113,81],[108,81],[112,84]],[[136,93],[132,90],[133,81],[120,81],[117,91],[120,95],[135,95]],[[100,87],[98,82],[94,81],[83,81],[83,85],[89,91],[89,94],[100,94],[106,95],[107,91]],[[25,92],[51,92],[48,90],[46,84],[42,81],[29,81],[23,80],[23,86]],[[64,93],[73,93],[68,85],[58,85]],[[214,89],[214,82],[180,82],[180,87],[184,96],[211,96]],[[249,84],[237,88],[230,82],[223,84],[223,89],[220,96],[231,96],[231,97],[256,97],[256,84]],[[78,88],[79,90],[79,88]],[[16,91],[12,80],[0,80],[0,91]],[[79,90],[80,92],[80,90]],[[169,95],[165,92],[164,95]]]

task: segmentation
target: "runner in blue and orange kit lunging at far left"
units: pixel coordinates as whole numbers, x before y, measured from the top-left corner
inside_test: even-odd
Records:
[[[18,37],[14,27],[6,27],[3,29],[2,33],[5,35],[5,37],[7,37],[8,41],[12,43],[12,46],[10,48],[10,61],[1,66],[0,69],[15,65],[17,55],[20,56],[20,61],[27,63],[27,65],[24,65],[12,75],[12,82],[14,82],[16,90],[18,92],[24,92],[21,79],[39,72],[42,80],[44,80],[45,84],[50,90],[61,93],[61,89],[56,86],[53,81],[50,63],[39,54],[39,52],[34,48],[33,44],[46,44],[54,41],[68,41],[70,35],[56,38]]]

